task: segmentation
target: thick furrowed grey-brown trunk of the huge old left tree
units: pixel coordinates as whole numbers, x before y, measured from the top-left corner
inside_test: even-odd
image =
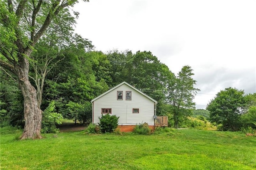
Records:
[[[32,50],[26,52],[30,55]],[[38,108],[36,89],[31,85],[28,79],[29,63],[26,57],[19,57],[19,66],[16,67],[16,73],[19,79],[19,86],[24,97],[24,132],[20,139],[26,138],[42,138],[42,111]]]

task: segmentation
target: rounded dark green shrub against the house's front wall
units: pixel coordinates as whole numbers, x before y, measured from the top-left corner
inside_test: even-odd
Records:
[[[100,130],[103,133],[106,132],[114,132],[114,130],[118,127],[118,119],[119,117],[117,117],[116,115],[110,115],[110,114],[106,114],[106,115],[101,115],[101,117],[99,117],[100,119]]]

